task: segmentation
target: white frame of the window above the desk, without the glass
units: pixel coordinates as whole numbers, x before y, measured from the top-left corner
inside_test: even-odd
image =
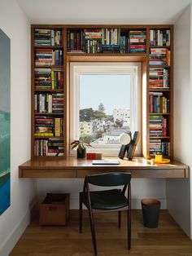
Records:
[[[130,118],[132,125],[130,130],[142,130],[142,64],[140,62],[124,62],[124,63],[106,63],[106,62],[71,62],[70,63],[70,143],[74,139],[79,138],[79,106],[80,106],[80,76],[81,75],[124,75],[129,74],[130,77]],[[134,86],[135,85],[135,86]],[[133,96],[133,97],[132,97]],[[142,139],[139,139],[135,155],[142,154]],[[120,146],[117,148],[89,148],[89,152],[102,152],[106,156],[117,155]],[[74,155],[75,150],[70,148],[70,155]]]

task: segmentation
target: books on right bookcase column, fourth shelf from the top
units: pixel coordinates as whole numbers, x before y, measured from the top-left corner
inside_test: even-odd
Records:
[[[169,113],[169,99],[163,92],[150,92],[150,113]]]

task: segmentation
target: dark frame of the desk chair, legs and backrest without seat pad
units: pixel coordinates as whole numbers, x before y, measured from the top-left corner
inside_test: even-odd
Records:
[[[121,183],[106,183],[105,181],[107,180],[107,176],[111,177],[111,175],[128,175],[129,176],[129,182],[126,181],[121,181]],[[117,177],[117,176],[115,176]],[[126,176],[124,176],[126,177]],[[103,179],[104,178],[104,179]],[[82,232],[82,205],[84,204],[86,208],[89,211],[89,222],[90,222],[90,227],[91,227],[91,235],[92,235],[92,241],[94,245],[94,255],[97,255],[97,242],[96,242],[96,235],[95,235],[95,227],[94,227],[94,213],[97,212],[110,212],[110,211],[118,211],[118,223],[119,223],[119,228],[121,226],[121,211],[122,210],[127,210],[127,228],[128,228],[128,249],[131,248],[131,174],[130,173],[105,173],[105,174],[96,174],[96,175],[87,175],[85,176],[84,180],[84,187],[83,187],[83,192],[80,192],[80,198],[79,198],[79,232]],[[100,210],[100,209],[94,209],[91,204],[91,196],[90,196],[90,191],[89,191],[89,184],[94,184],[96,186],[101,186],[101,187],[111,187],[111,186],[120,186],[123,185],[122,189],[118,189],[120,193],[124,195],[126,189],[127,189],[127,205],[121,208],[114,208],[112,210]],[[97,191],[98,192],[98,191]],[[92,193],[92,192],[91,192]]]

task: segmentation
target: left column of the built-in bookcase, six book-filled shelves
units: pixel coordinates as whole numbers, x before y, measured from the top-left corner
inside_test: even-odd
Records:
[[[32,26],[32,157],[64,157],[64,28]]]

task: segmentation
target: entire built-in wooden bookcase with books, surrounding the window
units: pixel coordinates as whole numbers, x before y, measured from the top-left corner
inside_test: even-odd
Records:
[[[32,25],[32,157],[64,157],[69,67],[74,61],[142,63],[142,154],[172,151],[172,25]]]

